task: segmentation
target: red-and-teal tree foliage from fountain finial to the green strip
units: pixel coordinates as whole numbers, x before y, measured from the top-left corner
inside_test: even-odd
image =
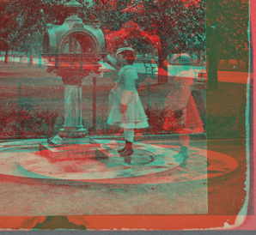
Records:
[[[121,10],[131,4],[140,14],[121,15]],[[162,43],[159,57],[160,67],[168,70],[166,63],[170,52],[195,51],[205,48],[205,3],[180,0],[96,0],[88,15],[101,19],[102,27],[110,30],[119,28],[129,19],[134,20],[143,30],[156,33]],[[118,19],[118,20],[117,20]],[[163,76],[162,81],[166,81]]]

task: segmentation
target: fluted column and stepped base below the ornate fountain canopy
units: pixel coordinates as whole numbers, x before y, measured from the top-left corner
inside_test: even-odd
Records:
[[[82,79],[88,74],[67,72],[62,76],[64,82],[64,125],[45,143],[40,143],[40,151],[51,160],[70,160],[84,158],[106,158],[97,151],[100,144],[93,142],[87,135],[88,131],[82,125]],[[72,154],[70,146],[79,150],[79,154]],[[96,153],[96,154],[95,154]],[[98,154],[97,154],[98,153]]]

